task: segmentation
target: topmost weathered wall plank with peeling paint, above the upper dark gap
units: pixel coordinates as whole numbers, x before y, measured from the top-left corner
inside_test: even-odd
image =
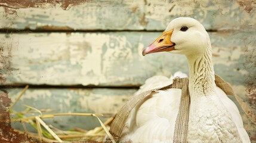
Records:
[[[35,2],[34,2],[35,3]],[[45,2],[47,3],[47,2]],[[256,22],[243,1],[77,1],[0,7],[0,28],[32,30],[164,30],[175,17],[193,17],[206,29],[240,29]],[[51,3],[51,2],[49,2]],[[5,3],[4,3],[5,4]],[[2,5],[4,5],[2,4]],[[63,10],[64,9],[64,10]]]

